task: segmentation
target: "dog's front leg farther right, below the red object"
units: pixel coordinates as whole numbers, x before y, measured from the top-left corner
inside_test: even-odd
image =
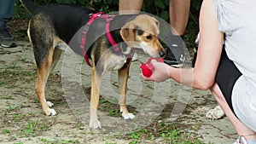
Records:
[[[120,112],[122,112],[122,117],[125,119],[135,118],[134,114],[128,112],[126,107],[126,90],[127,90],[127,81],[129,76],[129,66],[119,69],[119,105]]]

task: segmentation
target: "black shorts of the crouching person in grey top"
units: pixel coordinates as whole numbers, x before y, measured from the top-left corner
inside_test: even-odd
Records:
[[[222,94],[228,102],[232,112],[234,112],[231,101],[232,90],[236,80],[240,78],[240,76],[241,72],[237,69],[234,62],[228,58],[225,50],[223,49],[215,81],[221,89]]]

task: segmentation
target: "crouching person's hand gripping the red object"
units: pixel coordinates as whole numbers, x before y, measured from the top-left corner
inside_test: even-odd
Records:
[[[169,76],[169,68],[170,66],[163,63],[163,62],[158,62],[156,60],[151,60],[151,63],[154,66],[154,70],[153,73],[150,77],[145,77],[143,76],[144,80],[151,80],[151,81],[155,81],[155,82],[163,82],[166,81],[166,79],[170,78]]]

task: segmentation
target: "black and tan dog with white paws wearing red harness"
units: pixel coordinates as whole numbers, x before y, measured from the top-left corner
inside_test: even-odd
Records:
[[[20,2],[32,14],[27,33],[32,43],[38,68],[35,91],[44,113],[47,116],[52,116],[56,112],[49,108],[53,104],[46,101],[44,94],[49,73],[54,70],[62,51],[70,48],[67,43],[81,27],[87,26],[91,14],[96,14],[96,11],[67,4],[40,6],[30,0],[20,0]],[[110,32],[107,33],[110,33],[113,40],[118,43],[119,50],[109,49],[112,45],[105,32],[106,20],[100,18],[96,18],[91,23],[89,31],[86,33],[86,44],[82,45],[85,50],[70,48],[79,55],[86,53],[84,57],[89,58],[88,63],[90,62],[92,69],[89,125],[94,129],[101,128],[101,123],[97,118],[100,95],[97,84],[101,83],[102,74],[108,70],[118,71],[120,112],[122,112],[123,118],[133,119],[135,116],[126,108],[126,87],[130,66],[127,55],[132,57],[134,48],[143,49],[146,54],[154,58],[166,55],[166,51],[158,39],[160,24],[153,16],[125,14],[108,17],[111,17],[111,20],[109,22]],[[115,30],[115,27],[120,28]],[[103,55],[105,53],[108,55]]]

